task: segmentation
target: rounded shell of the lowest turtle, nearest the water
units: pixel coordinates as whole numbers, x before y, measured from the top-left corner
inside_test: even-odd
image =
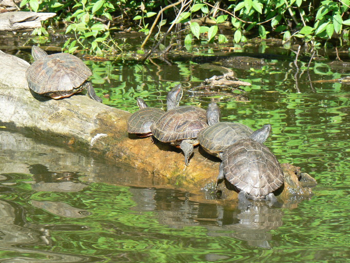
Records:
[[[284,182],[283,171],[274,154],[263,144],[243,139],[223,153],[225,178],[256,200],[264,199]]]

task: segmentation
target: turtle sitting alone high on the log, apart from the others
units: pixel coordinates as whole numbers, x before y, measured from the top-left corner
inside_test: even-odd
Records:
[[[79,58],[67,53],[47,55],[38,46],[32,46],[31,54],[34,62],[27,68],[26,78],[33,92],[60,99],[86,89],[91,99],[102,102],[87,81],[93,73]]]

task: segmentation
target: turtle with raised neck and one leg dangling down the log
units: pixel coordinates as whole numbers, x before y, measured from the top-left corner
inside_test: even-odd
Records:
[[[188,166],[193,147],[198,145],[197,134],[208,127],[208,124],[204,109],[178,106],[181,97],[181,85],[177,85],[168,93],[168,111],[152,124],[151,131],[159,141],[180,148],[185,154],[185,164]]]

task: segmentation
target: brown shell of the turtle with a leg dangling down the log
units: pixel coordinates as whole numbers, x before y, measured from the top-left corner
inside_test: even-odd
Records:
[[[208,127],[206,111],[193,106],[180,106],[167,111],[151,126],[153,135],[163,143],[197,138]]]

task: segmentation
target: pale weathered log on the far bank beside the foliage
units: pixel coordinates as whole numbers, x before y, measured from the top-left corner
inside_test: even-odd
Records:
[[[56,13],[36,12],[5,12],[0,13],[0,31],[16,31],[41,27],[41,21],[45,21]]]

